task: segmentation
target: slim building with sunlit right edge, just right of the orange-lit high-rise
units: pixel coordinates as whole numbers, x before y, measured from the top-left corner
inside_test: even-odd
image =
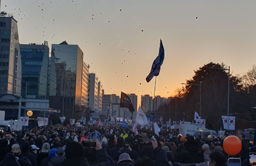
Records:
[[[89,74],[88,107],[97,111],[98,104],[98,76],[95,73]]]

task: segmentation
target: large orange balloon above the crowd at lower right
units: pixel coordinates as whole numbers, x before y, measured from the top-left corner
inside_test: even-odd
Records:
[[[223,142],[223,149],[227,154],[234,156],[242,150],[242,143],[239,138],[229,136]]]

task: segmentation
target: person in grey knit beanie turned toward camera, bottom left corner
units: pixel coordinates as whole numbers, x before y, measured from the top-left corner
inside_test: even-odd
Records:
[[[19,144],[13,144],[12,145],[12,153],[16,157],[18,163],[21,166],[32,166],[31,162],[27,157],[22,156],[22,147]]]

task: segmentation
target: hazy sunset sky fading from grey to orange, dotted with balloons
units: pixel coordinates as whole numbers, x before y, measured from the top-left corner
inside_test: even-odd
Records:
[[[169,97],[213,61],[233,74],[256,63],[255,0],[2,0],[22,44],[78,44],[106,94],[154,95],[147,83],[160,38],[165,59],[156,95]],[[197,17],[197,18],[196,18]],[[127,77],[128,76],[128,77]]]

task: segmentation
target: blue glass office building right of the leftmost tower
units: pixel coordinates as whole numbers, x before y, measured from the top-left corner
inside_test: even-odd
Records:
[[[38,45],[35,43],[21,44],[22,62],[22,97],[28,95],[36,99],[46,99],[49,47],[45,41]]]

